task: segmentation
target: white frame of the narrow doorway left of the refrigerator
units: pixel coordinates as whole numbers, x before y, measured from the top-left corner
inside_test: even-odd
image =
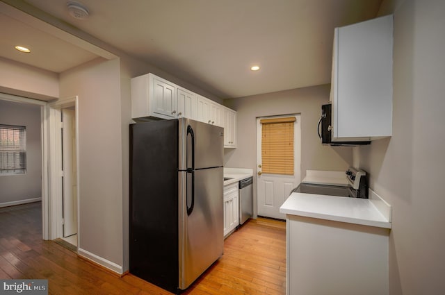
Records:
[[[79,245],[79,99],[78,96],[58,100],[48,104],[49,121],[49,239],[63,237],[63,197],[62,197],[62,150],[60,142],[60,113],[63,108],[74,106],[76,112],[76,165],[77,169],[77,244]]]

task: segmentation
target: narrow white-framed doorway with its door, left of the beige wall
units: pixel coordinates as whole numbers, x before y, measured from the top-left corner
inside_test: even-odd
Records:
[[[77,97],[49,103],[51,237],[79,245]]]

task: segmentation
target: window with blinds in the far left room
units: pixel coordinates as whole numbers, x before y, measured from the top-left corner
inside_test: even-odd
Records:
[[[26,171],[26,127],[0,125],[0,175]]]

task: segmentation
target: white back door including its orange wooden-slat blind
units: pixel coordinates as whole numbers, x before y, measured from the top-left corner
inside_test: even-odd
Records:
[[[286,219],[280,207],[301,181],[301,115],[257,118],[258,216]]]

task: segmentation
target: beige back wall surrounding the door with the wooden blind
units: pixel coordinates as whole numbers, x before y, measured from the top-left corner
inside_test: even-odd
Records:
[[[225,149],[225,167],[254,171],[254,204],[257,196],[257,117],[301,114],[301,178],[306,170],[346,171],[353,165],[353,148],[324,146],[317,134],[321,105],[329,101],[330,85],[319,85],[268,94],[226,99],[236,110],[238,148]],[[254,205],[254,207],[256,207]],[[254,208],[256,215],[257,208]]]

